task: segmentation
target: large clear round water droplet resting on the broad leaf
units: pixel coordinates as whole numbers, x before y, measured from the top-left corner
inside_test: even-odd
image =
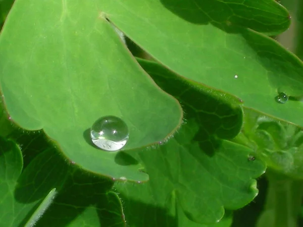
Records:
[[[90,128],[91,141],[107,151],[120,150],[127,143],[128,137],[127,125],[115,116],[99,118]]]

